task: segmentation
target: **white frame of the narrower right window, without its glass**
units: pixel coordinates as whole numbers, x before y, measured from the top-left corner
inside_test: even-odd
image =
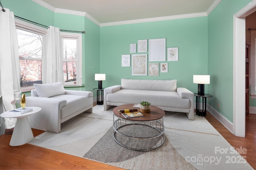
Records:
[[[77,87],[82,86],[82,34],[81,33],[71,33],[71,32],[60,32],[61,44],[63,50],[63,39],[77,39],[77,49],[76,49],[76,82],[77,84],[66,85],[64,82],[64,87]],[[62,59],[63,60],[63,59]]]

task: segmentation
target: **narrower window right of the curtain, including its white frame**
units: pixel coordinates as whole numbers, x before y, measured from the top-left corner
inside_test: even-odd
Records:
[[[64,86],[82,85],[82,35],[60,33],[62,40]]]

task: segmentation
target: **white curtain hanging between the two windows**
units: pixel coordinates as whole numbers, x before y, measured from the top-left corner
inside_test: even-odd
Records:
[[[46,51],[46,83],[62,82],[64,84],[59,28],[53,26],[48,28]]]

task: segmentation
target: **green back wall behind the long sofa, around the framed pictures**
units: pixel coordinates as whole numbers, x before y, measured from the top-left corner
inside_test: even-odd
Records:
[[[132,66],[121,66],[122,55],[130,54],[132,59],[132,54],[138,54],[130,53],[130,43],[138,44],[138,40],[158,38],[166,38],[166,48],[178,47],[178,61],[148,61],[168,63],[168,73],[159,72],[159,76],[132,76]],[[106,73],[106,81],[102,82],[104,87],[120,84],[121,78],[177,79],[177,87],[197,92],[193,74],[207,74],[207,53],[207,17],[100,27],[100,72]]]

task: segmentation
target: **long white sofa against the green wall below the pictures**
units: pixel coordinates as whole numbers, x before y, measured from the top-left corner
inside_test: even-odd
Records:
[[[186,88],[177,88],[177,80],[122,79],[121,85],[104,89],[104,110],[122,104],[148,101],[152,106],[165,111],[186,113],[194,120],[194,93]]]

